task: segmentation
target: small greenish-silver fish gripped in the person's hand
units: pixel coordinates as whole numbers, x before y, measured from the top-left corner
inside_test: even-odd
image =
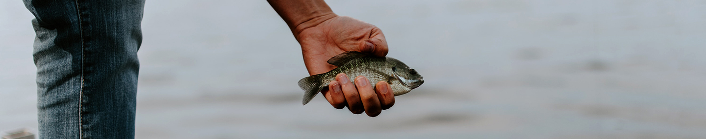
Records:
[[[304,100],[301,102],[303,105],[309,103],[321,89],[328,88],[328,83],[334,81],[340,73],[345,73],[350,81],[362,75],[368,78],[373,88],[378,81],[388,82],[395,96],[408,93],[424,83],[424,79],[416,70],[410,69],[395,58],[379,58],[351,51],[336,55],[327,62],[337,67],[326,73],[299,80],[299,88],[305,91]]]

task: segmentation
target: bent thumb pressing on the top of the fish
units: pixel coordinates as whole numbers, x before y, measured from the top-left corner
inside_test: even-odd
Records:
[[[360,51],[363,53],[371,53],[379,57],[388,55],[388,42],[385,40],[383,31],[378,27],[373,28],[371,30],[370,39],[366,39],[365,42],[361,44]]]

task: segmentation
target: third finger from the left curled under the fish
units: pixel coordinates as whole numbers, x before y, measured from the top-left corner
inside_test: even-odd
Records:
[[[373,86],[366,77],[358,76],[355,79],[356,88],[358,88],[358,93],[360,94],[360,100],[363,102],[363,107],[365,108],[365,114],[369,117],[377,117],[382,111],[380,107],[380,100],[378,100],[378,95],[376,95],[373,90]]]

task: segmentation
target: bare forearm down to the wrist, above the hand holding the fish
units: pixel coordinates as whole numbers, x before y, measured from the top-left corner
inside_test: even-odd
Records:
[[[323,0],[268,0],[282,20],[287,22],[294,37],[301,30],[314,27],[337,15]]]

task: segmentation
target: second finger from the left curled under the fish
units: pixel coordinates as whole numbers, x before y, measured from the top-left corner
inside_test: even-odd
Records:
[[[358,90],[355,88],[355,85],[351,83],[346,74],[340,73],[336,75],[336,81],[341,85],[341,91],[348,104],[348,110],[353,112],[353,114],[363,113],[364,108],[363,104],[360,102]]]

